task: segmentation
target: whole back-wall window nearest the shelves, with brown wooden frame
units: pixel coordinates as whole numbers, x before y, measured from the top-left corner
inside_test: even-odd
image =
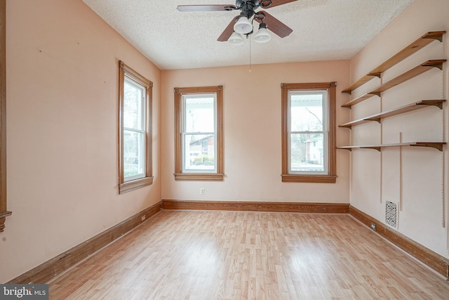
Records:
[[[281,84],[283,182],[335,183],[335,86]]]

